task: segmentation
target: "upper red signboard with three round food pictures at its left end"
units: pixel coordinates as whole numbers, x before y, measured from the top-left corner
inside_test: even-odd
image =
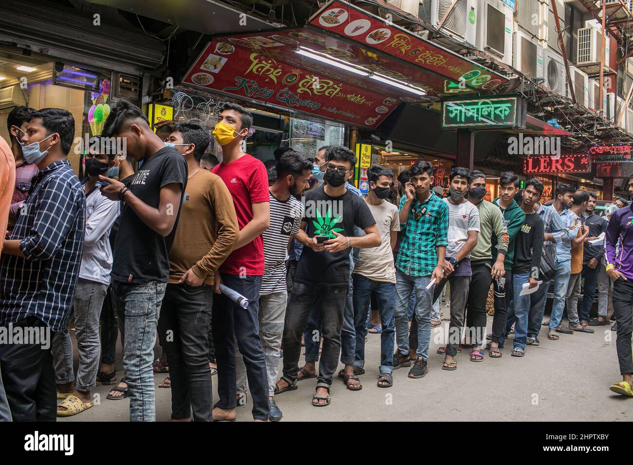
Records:
[[[377,49],[473,90],[487,92],[508,82],[502,75],[422,39],[390,20],[341,0],[323,6],[312,16],[310,25],[345,37],[363,49]]]

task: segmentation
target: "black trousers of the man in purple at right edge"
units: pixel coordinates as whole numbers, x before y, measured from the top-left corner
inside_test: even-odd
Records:
[[[631,332],[633,332],[632,309],[633,280],[619,278],[613,283],[613,314],[618,322],[618,336],[615,340],[615,348],[618,352],[620,375],[633,373],[633,354],[631,349]]]

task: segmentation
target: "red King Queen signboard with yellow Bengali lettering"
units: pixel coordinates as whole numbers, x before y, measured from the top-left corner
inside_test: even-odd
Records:
[[[219,39],[206,46],[182,82],[364,127],[376,127],[398,106],[391,97]]]

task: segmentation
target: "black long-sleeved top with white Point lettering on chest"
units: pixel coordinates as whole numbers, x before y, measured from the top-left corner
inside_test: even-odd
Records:
[[[515,239],[513,273],[530,273],[530,278],[539,278],[543,252],[543,220],[536,213],[525,215],[523,225]]]

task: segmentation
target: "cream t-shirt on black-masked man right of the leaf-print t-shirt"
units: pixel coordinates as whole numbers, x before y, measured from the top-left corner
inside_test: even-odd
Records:
[[[391,252],[391,232],[400,230],[398,207],[385,200],[380,205],[367,204],[367,206],[372,211],[382,243],[378,247],[361,249],[359,255],[361,261],[354,265],[354,273],[372,281],[395,283],[396,268],[394,268],[394,256]]]

